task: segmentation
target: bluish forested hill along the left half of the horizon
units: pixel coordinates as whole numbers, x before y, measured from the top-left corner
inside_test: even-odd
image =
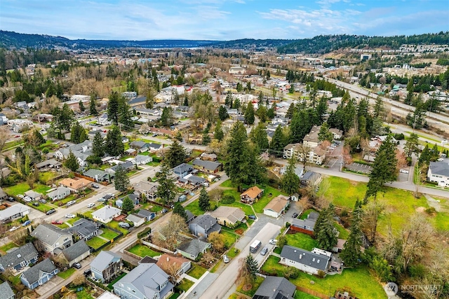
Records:
[[[217,41],[192,40],[149,40],[149,41],[107,41],[87,39],[66,39],[62,36],[42,34],[20,34],[0,30],[0,47],[3,48],[53,48],[62,46],[67,48],[195,48],[210,46]]]

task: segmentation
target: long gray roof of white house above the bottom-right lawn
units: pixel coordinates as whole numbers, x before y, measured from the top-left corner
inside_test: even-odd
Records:
[[[281,258],[288,258],[296,263],[308,265],[309,267],[323,271],[328,268],[329,263],[328,256],[322,256],[321,254],[312,253],[310,251],[289,245],[283,246]]]

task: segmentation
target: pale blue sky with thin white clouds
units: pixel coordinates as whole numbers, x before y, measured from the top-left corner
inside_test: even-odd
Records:
[[[301,39],[449,30],[449,0],[1,0],[0,29],[69,39]]]

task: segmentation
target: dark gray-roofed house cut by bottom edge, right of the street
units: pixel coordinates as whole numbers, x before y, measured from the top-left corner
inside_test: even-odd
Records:
[[[296,286],[284,277],[267,276],[253,299],[293,299],[295,298]]]

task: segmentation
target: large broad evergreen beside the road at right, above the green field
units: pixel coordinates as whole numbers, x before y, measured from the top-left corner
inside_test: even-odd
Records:
[[[379,146],[376,158],[373,162],[373,170],[369,174],[370,181],[366,186],[365,200],[370,196],[376,198],[384,183],[396,179],[396,144],[393,137],[388,135],[387,139]]]

